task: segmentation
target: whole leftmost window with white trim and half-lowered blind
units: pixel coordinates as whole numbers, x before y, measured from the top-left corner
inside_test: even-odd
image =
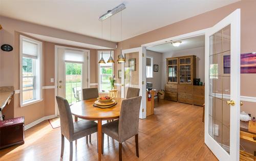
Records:
[[[20,106],[41,100],[40,41],[20,35]]]

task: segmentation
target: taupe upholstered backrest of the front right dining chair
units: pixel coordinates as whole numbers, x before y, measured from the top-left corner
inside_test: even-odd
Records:
[[[122,101],[118,125],[119,142],[124,142],[139,133],[141,98],[139,96]]]

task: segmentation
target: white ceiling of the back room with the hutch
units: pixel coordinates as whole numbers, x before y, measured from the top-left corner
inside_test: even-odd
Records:
[[[181,44],[179,45],[179,47],[174,47],[171,42],[167,42],[167,43],[155,45],[153,47],[148,47],[147,50],[151,50],[159,53],[169,53],[172,51],[204,47],[205,45],[204,35],[197,36],[197,37],[190,37],[180,41],[181,41]]]

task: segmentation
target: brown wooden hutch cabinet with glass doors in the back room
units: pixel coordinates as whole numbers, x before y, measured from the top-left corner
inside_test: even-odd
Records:
[[[166,65],[165,99],[203,106],[204,86],[193,85],[196,78],[196,56],[166,58]]]

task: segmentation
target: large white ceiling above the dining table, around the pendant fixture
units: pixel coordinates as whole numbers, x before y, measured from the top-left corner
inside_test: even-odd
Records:
[[[240,0],[0,0],[0,15],[101,38],[98,17],[121,3],[122,40]],[[120,13],[103,21],[103,39],[120,41]]]

